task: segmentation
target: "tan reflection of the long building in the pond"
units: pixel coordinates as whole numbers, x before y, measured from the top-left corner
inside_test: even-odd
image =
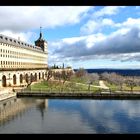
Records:
[[[20,99],[20,98],[11,98],[0,102],[0,123],[7,122],[16,118],[18,115],[22,115],[26,112],[29,108],[34,105],[37,105],[42,111],[42,105],[44,108],[45,101],[48,100],[40,100],[40,102],[32,99]]]

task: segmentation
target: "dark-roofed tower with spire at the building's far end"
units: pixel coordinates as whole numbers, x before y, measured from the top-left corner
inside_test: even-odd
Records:
[[[48,44],[47,44],[47,41],[43,39],[42,32],[41,32],[41,28],[42,28],[42,27],[40,27],[40,36],[39,36],[39,38],[35,41],[35,45],[41,47],[41,49],[42,49],[44,52],[47,52],[47,46],[48,46]]]

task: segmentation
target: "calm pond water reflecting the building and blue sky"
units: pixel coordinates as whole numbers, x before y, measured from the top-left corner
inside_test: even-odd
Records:
[[[0,133],[140,133],[140,101],[13,98],[0,103]]]

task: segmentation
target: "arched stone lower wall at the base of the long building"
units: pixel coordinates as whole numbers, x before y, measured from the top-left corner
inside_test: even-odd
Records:
[[[0,87],[22,86],[46,78],[46,70],[0,71]]]

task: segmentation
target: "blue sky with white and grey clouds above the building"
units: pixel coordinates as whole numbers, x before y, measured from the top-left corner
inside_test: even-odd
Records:
[[[0,34],[33,44],[48,65],[140,69],[140,6],[1,6]]]

